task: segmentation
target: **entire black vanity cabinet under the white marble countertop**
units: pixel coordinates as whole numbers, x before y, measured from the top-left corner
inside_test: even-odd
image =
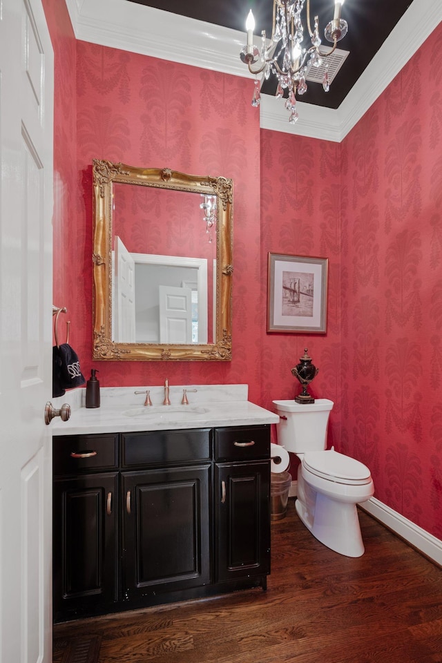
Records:
[[[55,622],[266,587],[270,426],[57,436]]]

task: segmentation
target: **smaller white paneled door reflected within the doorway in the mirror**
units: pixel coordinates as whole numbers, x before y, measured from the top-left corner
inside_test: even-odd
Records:
[[[159,285],[160,343],[192,343],[192,291]]]

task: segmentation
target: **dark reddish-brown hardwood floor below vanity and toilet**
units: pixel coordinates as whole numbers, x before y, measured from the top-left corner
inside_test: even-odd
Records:
[[[57,624],[54,637],[102,635],[99,663],[441,663],[442,570],[360,520],[365,555],[343,557],[290,499],[271,526],[267,592]]]

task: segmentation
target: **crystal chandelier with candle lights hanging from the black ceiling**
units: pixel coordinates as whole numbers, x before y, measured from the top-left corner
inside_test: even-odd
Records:
[[[327,23],[325,38],[332,42],[332,48],[327,51],[321,50],[321,39],[319,36],[318,17],[314,17],[314,30],[310,26],[310,0],[307,0],[307,30],[311,39],[311,46],[302,46],[304,40],[304,26],[302,25],[301,12],[305,0],[273,0],[273,27],[271,41],[267,45],[265,30],[262,31],[261,50],[253,44],[253,29],[255,21],[250,10],[247,17],[247,45],[241,51],[240,57],[247,64],[252,74],[264,72],[265,79],[271,73],[276,76],[278,86],[276,97],[281,98],[288,90],[285,107],[289,111],[289,122],[294,123],[298,119],[296,110],[296,95],[303,95],[307,90],[305,78],[311,66],[320,67],[325,64],[325,75],[323,88],[329,91],[329,76],[327,72],[327,57],[332,55],[340,39],[347,34],[347,21],[340,18],[340,10],[344,0],[335,0],[333,20]],[[253,67],[256,65],[256,67]],[[255,80],[253,90],[252,106],[260,104],[260,84]]]

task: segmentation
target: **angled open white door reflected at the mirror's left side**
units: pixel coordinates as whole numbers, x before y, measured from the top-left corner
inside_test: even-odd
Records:
[[[113,314],[117,343],[135,343],[135,261],[115,236],[115,299]]]

